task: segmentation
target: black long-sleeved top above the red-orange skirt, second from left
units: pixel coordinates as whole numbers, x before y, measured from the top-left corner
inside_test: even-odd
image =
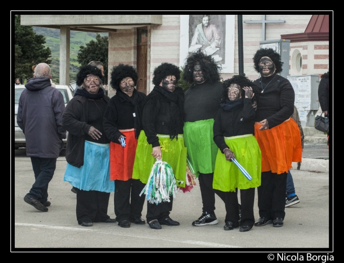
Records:
[[[130,102],[134,96],[137,96],[137,99],[135,100],[137,107]],[[141,120],[137,122],[137,126],[139,127],[135,127],[135,118],[141,119],[140,114],[142,114],[143,101],[146,98],[146,95],[134,90],[132,97],[129,97],[120,90],[117,90],[116,95],[109,101],[103,117],[103,129],[106,136],[112,142],[119,144],[118,138],[120,135],[123,135],[123,133],[118,130],[133,128],[141,130]]]

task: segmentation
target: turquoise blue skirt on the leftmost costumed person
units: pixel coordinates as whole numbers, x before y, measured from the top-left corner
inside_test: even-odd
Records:
[[[110,144],[85,141],[84,165],[67,163],[63,181],[85,191],[115,192],[115,182],[110,181]]]

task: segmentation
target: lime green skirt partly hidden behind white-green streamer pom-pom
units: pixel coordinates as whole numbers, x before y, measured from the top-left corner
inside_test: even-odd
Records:
[[[178,140],[170,139],[170,135],[157,134],[161,146],[161,159],[170,164],[177,182],[177,187],[185,187],[186,154],[183,134],[178,134]],[[147,137],[141,131],[136,148],[133,179],[140,179],[147,183],[153,164],[156,159],[151,155],[153,147],[147,142]]]

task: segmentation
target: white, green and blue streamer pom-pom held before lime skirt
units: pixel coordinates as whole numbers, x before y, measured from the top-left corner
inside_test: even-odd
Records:
[[[170,202],[170,196],[175,197],[177,183],[170,164],[158,160],[152,167],[148,182],[141,191],[150,203]]]

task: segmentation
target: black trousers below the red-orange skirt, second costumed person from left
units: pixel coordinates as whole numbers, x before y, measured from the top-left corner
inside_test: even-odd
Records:
[[[144,186],[145,184],[137,179],[115,180],[114,204],[117,222],[142,216],[145,196],[140,197],[140,193]]]

